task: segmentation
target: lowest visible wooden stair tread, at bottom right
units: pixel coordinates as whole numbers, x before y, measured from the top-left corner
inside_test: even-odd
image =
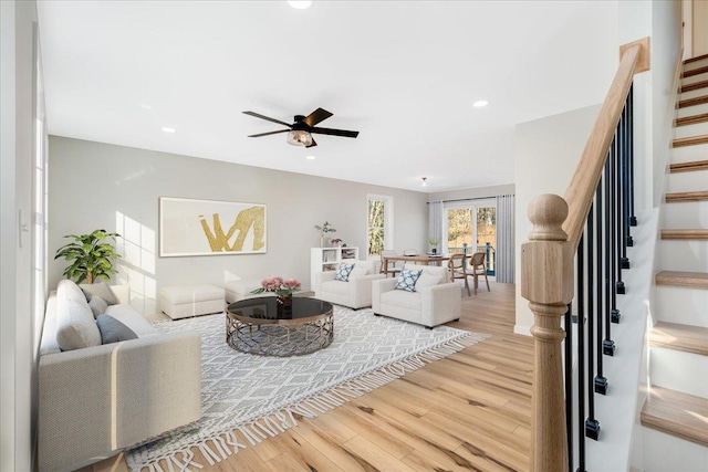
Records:
[[[642,424],[708,447],[708,399],[652,387],[642,408]]]

